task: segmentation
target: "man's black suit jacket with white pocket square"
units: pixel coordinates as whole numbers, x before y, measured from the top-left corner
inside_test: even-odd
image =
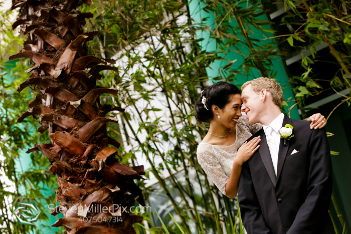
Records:
[[[263,129],[251,137],[261,136],[261,142],[240,176],[244,226],[249,234],[335,233],[328,213],[332,179],[325,130],[311,130],[309,121],[287,116],[285,124],[294,127],[294,137],[286,146],[280,139],[277,176]],[[294,149],[298,152],[291,154]]]

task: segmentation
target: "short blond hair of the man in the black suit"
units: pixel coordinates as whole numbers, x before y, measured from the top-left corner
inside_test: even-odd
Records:
[[[260,77],[253,79],[252,81],[247,81],[243,84],[243,86],[241,86],[241,91],[243,91],[248,85],[251,85],[253,91],[255,92],[261,92],[262,89],[267,90],[267,92],[272,95],[274,104],[279,108],[283,106],[283,91],[275,79]]]

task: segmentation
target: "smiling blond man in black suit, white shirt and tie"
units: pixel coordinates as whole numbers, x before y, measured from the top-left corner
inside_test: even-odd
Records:
[[[251,137],[261,136],[260,148],[243,164],[239,182],[247,232],[334,234],[328,213],[332,179],[324,128],[311,130],[308,121],[282,114],[283,92],[274,79],[248,81],[241,89],[241,111],[250,124],[263,125]],[[286,124],[293,127],[293,137],[284,145],[278,131]]]

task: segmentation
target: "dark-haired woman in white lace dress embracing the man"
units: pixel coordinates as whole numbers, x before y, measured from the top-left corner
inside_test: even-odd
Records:
[[[229,198],[236,197],[241,167],[259,148],[261,140],[255,137],[246,142],[262,125],[250,125],[246,114],[240,111],[241,104],[239,89],[227,82],[207,87],[195,104],[196,119],[210,122],[209,132],[198,146],[199,164]],[[326,124],[321,114],[314,114],[309,120],[311,129],[322,128]]]

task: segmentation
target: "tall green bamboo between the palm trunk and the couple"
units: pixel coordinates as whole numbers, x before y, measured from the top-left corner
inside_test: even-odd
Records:
[[[234,220],[237,205],[218,194],[198,164],[198,139],[206,134],[206,126],[194,119],[195,101],[208,81],[206,68],[221,57],[201,51],[196,31],[202,26],[189,18],[185,2],[95,1],[90,8],[96,7],[86,27],[100,31],[101,37],[89,50],[117,60],[119,71],[104,72],[99,84],[117,88],[118,97],[106,96],[105,101],[126,108],[124,114],[115,113],[124,139],[122,160],[138,164],[136,159],[142,159],[151,165],[146,176],[156,179],[159,187],[138,185],[144,187],[149,204],[160,197],[154,204],[167,226],[179,222],[188,233],[194,225],[222,233],[224,220]],[[164,173],[169,178],[164,179]],[[198,209],[203,210],[202,223]],[[154,215],[148,220],[154,227],[161,224]]]

